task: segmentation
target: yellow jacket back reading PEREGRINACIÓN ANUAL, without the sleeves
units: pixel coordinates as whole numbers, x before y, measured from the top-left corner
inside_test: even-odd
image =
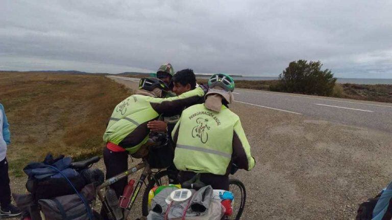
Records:
[[[225,175],[233,152],[238,116],[222,107],[219,113],[204,104],[186,108],[178,122],[174,163],[180,171]]]

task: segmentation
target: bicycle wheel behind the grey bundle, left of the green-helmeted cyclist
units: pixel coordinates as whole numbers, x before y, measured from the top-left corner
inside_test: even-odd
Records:
[[[149,184],[147,184],[147,187],[145,188],[145,191],[143,193],[143,199],[141,202],[141,212],[142,212],[143,216],[147,216],[151,210],[151,207],[149,207],[150,190],[152,188],[154,188],[155,186],[168,185],[170,182],[173,182],[173,180],[170,181],[170,177],[173,178],[175,175],[173,175],[171,173],[172,172],[169,172],[167,170],[160,171],[154,175],[156,181],[152,180],[149,182]]]

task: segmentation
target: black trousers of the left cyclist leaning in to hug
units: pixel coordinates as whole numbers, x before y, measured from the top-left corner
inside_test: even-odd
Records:
[[[106,179],[114,177],[128,170],[128,152],[114,152],[104,147],[104,162],[106,167]],[[117,198],[122,195],[124,187],[128,184],[128,178],[119,180],[112,184],[110,187],[116,192]],[[106,212],[101,209],[101,215],[104,219],[107,219]]]

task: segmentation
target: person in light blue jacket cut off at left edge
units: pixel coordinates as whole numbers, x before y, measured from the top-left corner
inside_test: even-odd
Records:
[[[6,158],[11,134],[4,107],[0,104],[0,218],[20,215],[20,210],[11,204],[10,177]]]

